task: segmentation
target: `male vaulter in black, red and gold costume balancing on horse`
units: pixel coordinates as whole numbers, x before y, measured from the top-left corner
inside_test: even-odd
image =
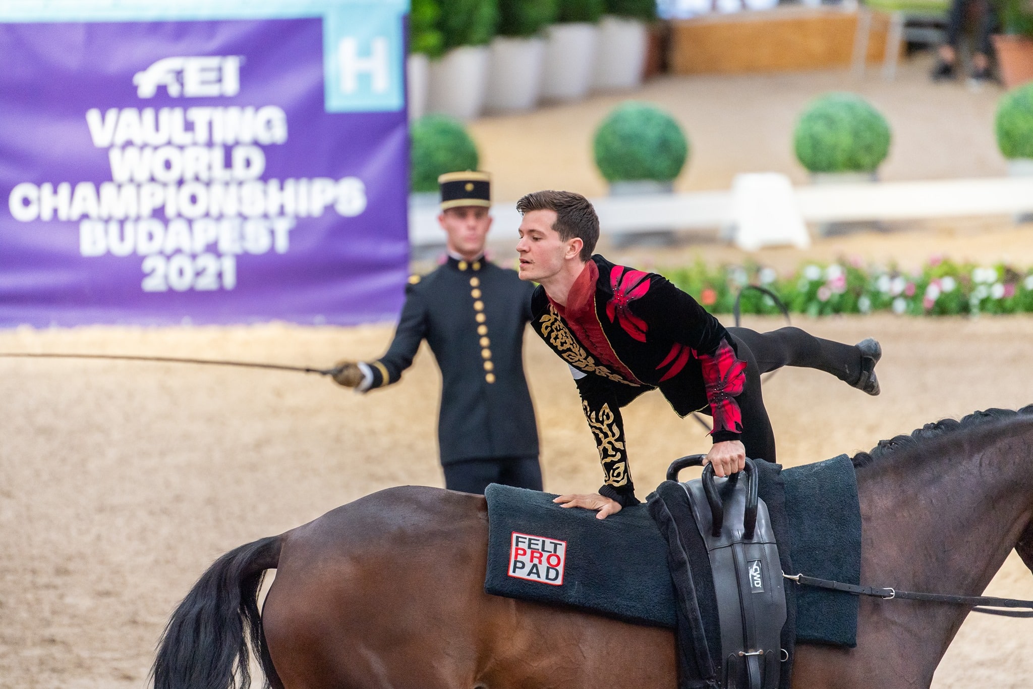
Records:
[[[718,476],[742,470],[747,456],[775,461],[761,373],[819,369],[879,394],[875,365],[882,350],[875,340],[846,345],[797,327],[725,328],[662,276],[592,255],[599,219],[581,194],[538,191],[521,198],[516,210],[524,216],[520,277],[539,283],[531,324],[570,367],[604,474],[598,494],[557,498],[564,507],[594,509],[605,519],[638,503],[621,407],[647,390],[659,387],[682,416],[711,414],[714,445],[705,463]]]

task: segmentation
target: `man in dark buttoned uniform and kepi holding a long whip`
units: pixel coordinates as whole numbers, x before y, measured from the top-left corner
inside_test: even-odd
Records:
[[[361,392],[397,383],[427,340],[441,368],[438,445],[445,487],[483,493],[489,483],[541,490],[538,430],[524,377],[529,283],[484,260],[491,228],[487,173],[438,179],[448,260],[406,287],[395,340],[374,362],[342,362],[335,380]]]

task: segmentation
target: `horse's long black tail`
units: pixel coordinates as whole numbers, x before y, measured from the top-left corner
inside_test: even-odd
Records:
[[[234,674],[240,688],[248,689],[248,637],[270,683],[282,686],[258,610],[262,576],[279,560],[280,536],[271,536],[226,553],[208,568],[165,626],[151,668],[154,689],[226,689],[237,686]]]

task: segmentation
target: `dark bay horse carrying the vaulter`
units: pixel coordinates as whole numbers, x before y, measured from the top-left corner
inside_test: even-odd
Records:
[[[977,595],[1012,549],[1033,569],[1033,405],[927,425],[854,466],[864,584]],[[408,487],[242,545],[173,615],[155,689],[246,688],[247,638],[277,688],[676,686],[668,630],[486,594],[487,543],[482,497]],[[928,687],[966,615],[862,599],[857,647],[797,646],[792,686]]]

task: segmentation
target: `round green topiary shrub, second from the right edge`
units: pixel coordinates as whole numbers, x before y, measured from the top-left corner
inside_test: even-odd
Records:
[[[828,93],[800,116],[796,158],[812,173],[874,173],[889,152],[889,125],[854,93]]]

